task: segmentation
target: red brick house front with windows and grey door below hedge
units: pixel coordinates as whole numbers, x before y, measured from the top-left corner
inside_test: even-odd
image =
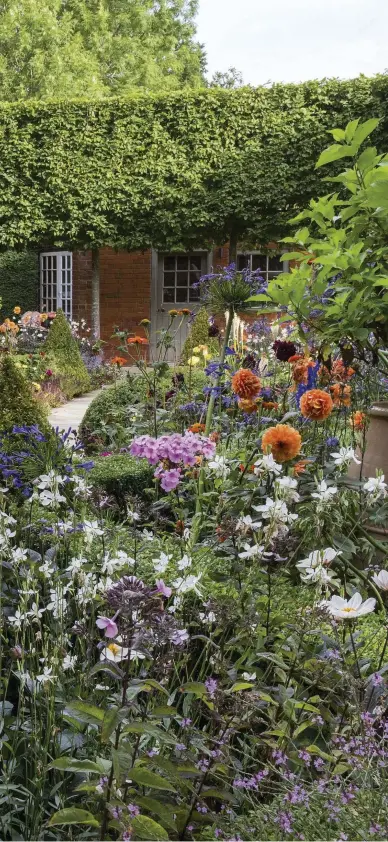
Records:
[[[198,290],[193,287],[202,274],[212,267],[227,266],[229,248],[211,252],[167,254],[153,249],[145,252],[99,251],[100,335],[109,340],[112,328],[141,333],[142,319],[151,320],[151,339],[168,321],[168,310],[177,307],[198,307]],[[274,277],[286,267],[279,257],[260,252],[238,252],[238,268],[260,268],[265,278]],[[85,319],[92,324],[92,252],[51,251],[40,255],[41,311],[62,307],[68,318]],[[176,339],[182,346],[185,328]]]

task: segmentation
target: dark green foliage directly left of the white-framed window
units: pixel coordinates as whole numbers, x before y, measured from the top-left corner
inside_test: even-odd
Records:
[[[1,319],[22,311],[39,310],[39,256],[33,251],[6,251],[0,254]]]

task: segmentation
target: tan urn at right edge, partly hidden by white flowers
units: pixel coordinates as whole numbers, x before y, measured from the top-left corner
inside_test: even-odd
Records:
[[[362,465],[351,462],[348,470],[349,479],[375,477],[376,471],[381,471],[388,481],[388,401],[378,401],[369,410],[369,426],[366,435],[366,448]],[[356,452],[360,459],[360,451]],[[376,538],[388,540],[388,529],[380,529],[372,524],[368,531]]]

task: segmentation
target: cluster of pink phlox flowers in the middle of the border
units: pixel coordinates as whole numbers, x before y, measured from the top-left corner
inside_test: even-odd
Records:
[[[215,448],[214,442],[205,436],[186,432],[183,436],[173,433],[171,436],[161,436],[160,439],[139,436],[132,442],[130,453],[147,459],[150,465],[159,463],[155,477],[160,479],[164,491],[173,491],[179,485],[182,467],[195,465],[197,456],[210,459],[214,456]]]

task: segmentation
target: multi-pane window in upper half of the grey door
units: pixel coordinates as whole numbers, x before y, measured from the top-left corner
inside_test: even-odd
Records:
[[[206,272],[206,254],[166,254],[163,257],[163,303],[199,301],[195,284]]]

